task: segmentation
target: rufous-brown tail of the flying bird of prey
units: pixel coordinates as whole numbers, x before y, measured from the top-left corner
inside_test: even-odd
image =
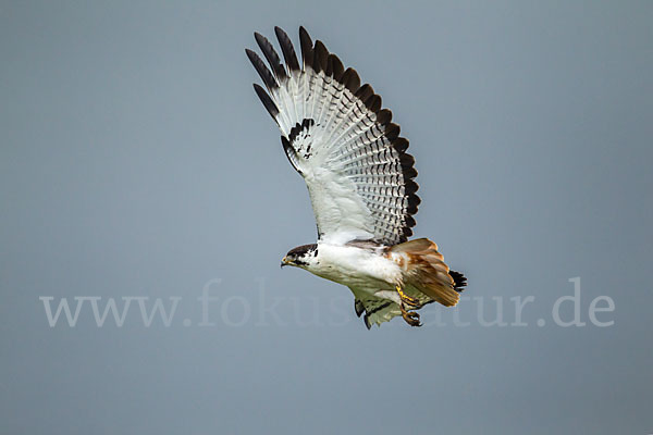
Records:
[[[395,245],[393,254],[404,259],[404,285],[412,287],[445,307],[458,303],[459,293],[467,278],[459,272],[449,271],[438,245],[428,238],[419,238]]]

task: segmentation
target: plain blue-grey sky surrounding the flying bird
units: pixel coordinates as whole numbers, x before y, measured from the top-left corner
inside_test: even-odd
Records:
[[[1,2],[0,433],[651,433],[651,23],[648,1]],[[368,332],[345,287],[280,271],[316,232],[244,53],[274,25],[372,84],[417,159],[416,235],[488,320],[534,297],[528,326],[472,299],[467,327],[429,306]],[[576,276],[588,324],[560,327]],[[50,327],[42,296],[183,299],[170,327],[89,306]]]

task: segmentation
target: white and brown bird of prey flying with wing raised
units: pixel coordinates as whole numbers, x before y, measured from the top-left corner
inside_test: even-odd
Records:
[[[281,129],[283,150],[304,177],[318,226],[317,244],[291,249],[282,266],[343,284],[368,328],[394,316],[420,326],[417,310],[458,302],[467,285],[428,238],[408,240],[420,202],[415,159],[392,112],[353,69],[343,66],[299,27],[301,63],[284,30],[274,28],[285,66],[255,34],[270,69],[245,50],[267,91],[256,94]]]

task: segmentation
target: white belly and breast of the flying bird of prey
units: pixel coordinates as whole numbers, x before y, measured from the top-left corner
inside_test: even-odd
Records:
[[[378,251],[354,246],[318,243],[318,254],[308,259],[307,271],[320,277],[399,302],[399,265]]]

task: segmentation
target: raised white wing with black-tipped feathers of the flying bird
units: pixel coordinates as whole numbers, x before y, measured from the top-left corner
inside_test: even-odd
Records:
[[[360,86],[356,71],[345,71],[321,41],[312,44],[299,27],[303,64],[288,36],[274,28],[285,66],[263,36],[256,41],[271,69],[246,50],[267,90],[254,88],[281,129],[283,149],[306,181],[318,235],[346,243],[373,239],[384,245],[406,241],[415,226],[415,159],[406,153],[392,112],[381,97]]]

